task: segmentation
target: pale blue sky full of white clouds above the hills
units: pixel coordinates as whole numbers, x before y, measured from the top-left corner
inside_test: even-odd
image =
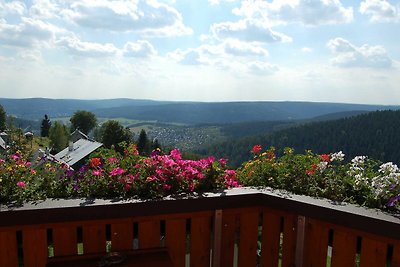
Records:
[[[400,0],[0,0],[0,97],[400,104]]]

